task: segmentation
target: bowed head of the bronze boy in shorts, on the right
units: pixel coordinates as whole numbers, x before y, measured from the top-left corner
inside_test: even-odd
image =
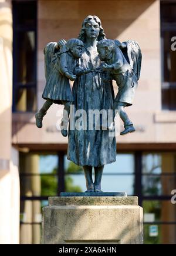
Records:
[[[111,52],[115,51],[116,45],[113,40],[103,39],[97,42],[97,51],[99,52],[99,57],[101,61],[107,61],[108,56]]]

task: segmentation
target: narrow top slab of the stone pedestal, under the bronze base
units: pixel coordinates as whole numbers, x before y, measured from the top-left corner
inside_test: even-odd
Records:
[[[138,197],[49,197],[49,205],[138,205]]]

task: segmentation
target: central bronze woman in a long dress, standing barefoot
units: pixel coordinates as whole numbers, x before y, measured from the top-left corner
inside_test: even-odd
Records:
[[[84,43],[82,56],[79,59],[80,68],[88,73],[79,75],[73,84],[73,99],[75,112],[84,109],[112,109],[114,91],[110,81],[103,79],[98,71],[102,62],[97,52],[97,42],[105,39],[101,21],[97,16],[87,16],[78,36]],[[63,40],[60,41],[62,44]],[[86,192],[101,192],[101,176],[105,164],[116,161],[116,138],[109,136],[109,130],[102,127],[89,130],[87,118],[86,130],[70,129],[67,159],[83,167],[86,178]],[[92,171],[94,168],[94,182]]]

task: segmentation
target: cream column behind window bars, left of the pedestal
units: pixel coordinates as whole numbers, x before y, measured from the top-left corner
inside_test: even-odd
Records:
[[[22,154],[20,157],[21,172],[26,174],[39,174],[39,155]],[[22,179],[21,194],[32,197],[40,196],[40,177],[38,175],[28,175]],[[23,222],[21,224],[21,244],[40,244],[40,226],[32,224],[39,221],[40,201],[25,200],[21,202],[21,212]],[[26,224],[25,224],[26,222]]]

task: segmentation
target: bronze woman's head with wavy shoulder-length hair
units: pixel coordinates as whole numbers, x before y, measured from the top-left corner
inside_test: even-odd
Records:
[[[97,41],[100,41],[102,39],[105,39],[104,29],[101,26],[100,19],[95,15],[89,15],[87,16],[82,24],[82,29],[80,31],[80,34],[78,38],[86,42],[87,38],[96,38]]]

